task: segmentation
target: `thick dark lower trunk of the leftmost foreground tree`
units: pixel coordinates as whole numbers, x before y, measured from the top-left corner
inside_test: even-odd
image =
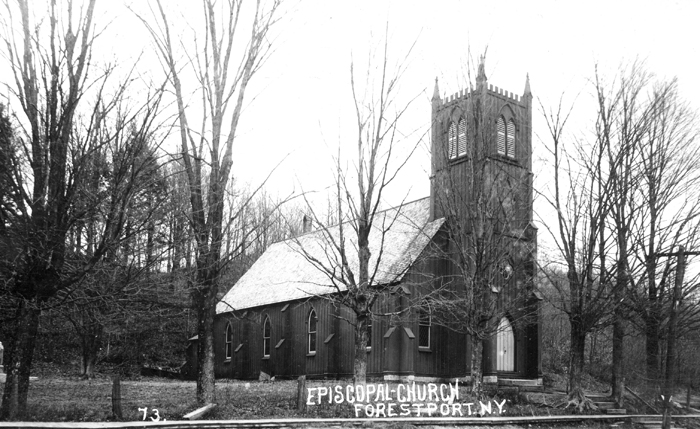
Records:
[[[5,391],[0,410],[0,418],[3,420],[15,420],[27,410],[29,372],[40,312],[32,301],[21,301],[17,309],[15,335],[11,340],[9,359],[5,365]]]

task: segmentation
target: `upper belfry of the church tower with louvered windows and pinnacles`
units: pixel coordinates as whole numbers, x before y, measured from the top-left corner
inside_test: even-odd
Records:
[[[453,95],[441,97],[436,78],[431,104],[432,218],[445,215],[440,193],[465,193],[466,202],[466,194],[474,196],[474,192],[467,192],[465,187],[490,185],[492,180],[501,178],[513,188],[513,192],[509,192],[512,195],[501,193],[503,203],[512,206],[507,207],[513,211],[508,213],[512,218],[511,226],[524,228],[531,223],[532,93],[529,76],[525,78],[522,95],[498,88],[488,83],[482,58],[474,84]],[[441,180],[448,173],[458,176],[457,180],[450,183]],[[487,175],[491,177],[480,177],[482,173],[490,173]],[[454,189],[456,187],[461,189]]]

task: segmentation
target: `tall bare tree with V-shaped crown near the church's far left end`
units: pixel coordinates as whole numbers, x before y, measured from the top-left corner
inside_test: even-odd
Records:
[[[156,43],[175,93],[180,131],[180,155],[189,190],[189,218],[196,240],[196,274],[190,278],[199,336],[197,401],[214,400],[214,316],[218,300],[221,251],[224,243],[224,202],[231,175],[234,140],[243,113],[246,90],[271,53],[271,28],[280,1],[251,4],[202,2],[202,33],[195,33],[194,51],[181,61],[173,41],[165,6],[156,2],[155,22],[142,18]],[[190,126],[192,109],[181,74],[191,67],[201,96],[201,127]]]

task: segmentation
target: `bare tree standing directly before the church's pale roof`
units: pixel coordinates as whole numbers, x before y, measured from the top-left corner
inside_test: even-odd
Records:
[[[407,57],[408,54],[404,58]],[[399,220],[403,216],[400,206],[383,211],[381,204],[387,188],[419,143],[397,160],[399,122],[411,104],[409,101],[400,105],[396,99],[406,64],[405,61],[395,66],[391,63],[386,39],[380,60],[373,60],[374,56],[370,55],[364,82],[356,80],[363,74],[355,70],[355,62],[350,65],[357,151],[357,158],[352,161],[354,168],[344,167],[339,148],[334,159],[334,213],[324,216],[307,201],[311,220],[318,230],[315,242],[298,238],[294,241],[296,249],[328,278],[331,286],[323,297],[346,307],[354,316],[346,321],[354,327],[353,376],[355,383],[360,384],[366,381],[368,326],[373,306],[387,293],[387,286],[405,273],[404,270],[387,273],[383,266],[385,239],[396,222],[405,220]],[[329,224],[328,219],[336,219],[338,224]]]

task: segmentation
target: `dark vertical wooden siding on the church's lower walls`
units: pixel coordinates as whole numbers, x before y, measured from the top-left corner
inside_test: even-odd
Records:
[[[470,341],[466,334],[432,325],[430,348],[421,349],[418,345],[418,312],[401,311],[420,296],[422,289],[434,287],[434,283],[440,281],[440,278],[455,273],[455,267],[446,258],[431,257],[428,253],[434,246],[442,246],[443,250],[449,249],[450,243],[445,241],[445,237],[444,232],[438,234],[435,242],[426,249],[426,254],[422,255],[404,276],[404,291],[387,293],[375,303],[371,349],[367,352],[369,377],[413,375],[453,378],[469,374]],[[534,298],[526,299],[516,293],[526,279],[521,271],[516,270],[515,274],[503,283],[502,293],[498,298],[501,305],[506,305],[514,299],[522,302],[522,309],[510,314],[515,336],[515,370],[502,375],[535,378],[539,368],[539,328],[537,324],[531,323],[532,319],[527,322],[524,316],[533,309],[536,311],[538,302]],[[312,308],[318,317],[315,355],[307,353],[308,316]],[[400,316],[379,316],[390,314]],[[265,317],[270,317],[272,324],[269,358],[263,357],[262,335]],[[349,309],[335,307],[323,298],[283,302],[247,311],[220,314],[215,324],[216,376],[257,379],[263,371],[279,378],[295,378],[299,375],[310,378],[350,378],[353,372],[354,328],[345,319],[353,319]],[[233,326],[234,353],[230,360],[226,360],[225,332],[229,322]],[[414,338],[410,338],[409,332]],[[280,344],[282,339],[284,341]],[[494,369],[495,343],[495,337],[493,341],[486,341],[487,347],[491,345]]]

